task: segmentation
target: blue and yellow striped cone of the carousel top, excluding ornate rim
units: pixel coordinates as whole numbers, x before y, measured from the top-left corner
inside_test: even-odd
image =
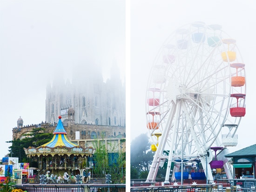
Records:
[[[78,145],[72,143],[71,141],[69,141],[67,139],[66,135],[67,135],[67,132],[66,132],[66,130],[65,130],[63,124],[62,124],[61,116],[59,116],[59,122],[58,122],[58,124],[56,126],[56,129],[54,131],[54,137],[48,143],[43,144],[41,146],[43,146],[43,147],[45,147],[45,146],[47,146],[47,147],[56,147],[56,146],[74,147],[74,146],[78,146]]]

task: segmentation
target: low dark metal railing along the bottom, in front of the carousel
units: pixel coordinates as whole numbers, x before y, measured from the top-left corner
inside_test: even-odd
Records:
[[[125,192],[125,185],[40,185],[23,184],[13,185],[15,189],[22,189],[27,192]]]

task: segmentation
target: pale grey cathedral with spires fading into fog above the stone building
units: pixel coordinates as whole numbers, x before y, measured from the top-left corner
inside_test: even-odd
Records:
[[[75,124],[125,126],[125,84],[116,63],[106,82],[94,62],[74,66],[68,77],[57,71],[47,85],[45,120],[54,123],[60,115],[63,124],[71,119]]]

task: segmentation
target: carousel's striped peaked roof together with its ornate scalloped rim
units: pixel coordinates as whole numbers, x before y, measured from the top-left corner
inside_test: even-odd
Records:
[[[91,156],[94,152],[93,147],[78,146],[67,139],[67,132],[62,124],[61,116],[59,116],[59,122],[53,134],[53,138],[46,144],[43,144],[39,147],[30,146],[27,149],[24,148],[26,155],[40,156],[49,154],[54,156],[55,154],[67,154],[68,156],[70,156],[73,154],[81,156]]]

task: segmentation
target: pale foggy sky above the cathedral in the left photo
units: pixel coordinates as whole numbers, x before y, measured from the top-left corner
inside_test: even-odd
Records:
[[[45,120],[55,75],[72,81],[73,66],[86,74],[96,63],[106,81],[115,60],[124,81],[124,0],[1,0],[0,158],[20,116],[25,126]]]

